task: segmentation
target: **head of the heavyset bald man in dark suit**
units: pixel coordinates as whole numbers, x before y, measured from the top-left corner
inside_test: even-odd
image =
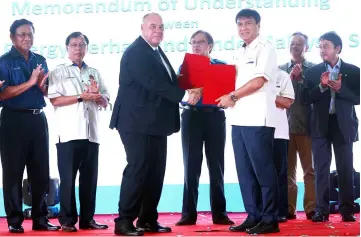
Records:
[[[142,36],[153,47],[158,47],[163,40],[164,25],[158,13],[148,13],[143,17]]]

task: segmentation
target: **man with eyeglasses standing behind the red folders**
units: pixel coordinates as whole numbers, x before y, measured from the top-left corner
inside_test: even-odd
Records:
[[[196,31],[191,36],[192,52],[210,57],[214,41],[206,31]],[[226,64],[210,59],[211,64]],[[180,69],[179,69],[180,71]],[[203,143],[210,177],[210,200],[214,224],[232,225],[226,213],[224,197],[224,148],[226,142],[226,117],[223,109],[216,105],[187,102],[183,106],[181,130],[184,163],[184,190],[182,218],[176,225],[195,225],[197,221],[197,202],[199,176],[203,160]]]

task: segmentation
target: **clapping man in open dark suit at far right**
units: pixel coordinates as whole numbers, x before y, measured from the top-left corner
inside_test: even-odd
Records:
[[[331,144],[339,177],[340,213],[355,221],[353,198],[353,142],[358,140],[355,105],[360,104],[360,68],[339,58],[342,40],[335,32],[320,37],[323,63],[305,75],[304,99],[311,105],[312,152],[316,180],[314,222],[328,221]]]

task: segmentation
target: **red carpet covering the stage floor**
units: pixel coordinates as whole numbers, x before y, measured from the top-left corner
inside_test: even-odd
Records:
[[[78,230],[75,233],[57,232],[39,232],[31,230],[31,221],[26,220],[23,224],[25,229],[24,235],[32,236],[112,236],[114,231],[114,219],[112,215],[98,215],[96,220],[101,223],[109,225],[107,230]],[[246,215],[244,213],[230,213],[229,217],[237,224],[242,223]],[[306,220],[304,213],[298,213],[298,219],[291,220],[280,224],[281,232],[272,235],[281,236],[358,236],[360,235],[360,216],[357,215],[357,221],[354,223],[341,222],[339,215],[330,216],[330,221],[325,223],[313,223]],[[173,232],[167,234],[148,234],[145,235],[159,235],[159,236],[241,236],[245,233],[233,233],[228,231],[228,226],[213,225],[212,218],[209,213],[200,213],[198,215],[197,225],[178,227],[174,226],[180,218],[179,214],[160,214],[159,221],[163,225],[171,226]],[[56,219],[53,223],[58,223]],[[10,235],[7,230],[5,218],[0,219],[0,235]],[[11,234],[18,235],[19,234]],[[21,234],[20,234],[21,235]]]

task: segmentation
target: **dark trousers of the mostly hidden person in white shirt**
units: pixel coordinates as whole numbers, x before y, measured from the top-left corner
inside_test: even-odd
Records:
[[[273,156],[278,178],[278,216],[288,215],[288,180],[287,180],[288,140],[275,139]]]

